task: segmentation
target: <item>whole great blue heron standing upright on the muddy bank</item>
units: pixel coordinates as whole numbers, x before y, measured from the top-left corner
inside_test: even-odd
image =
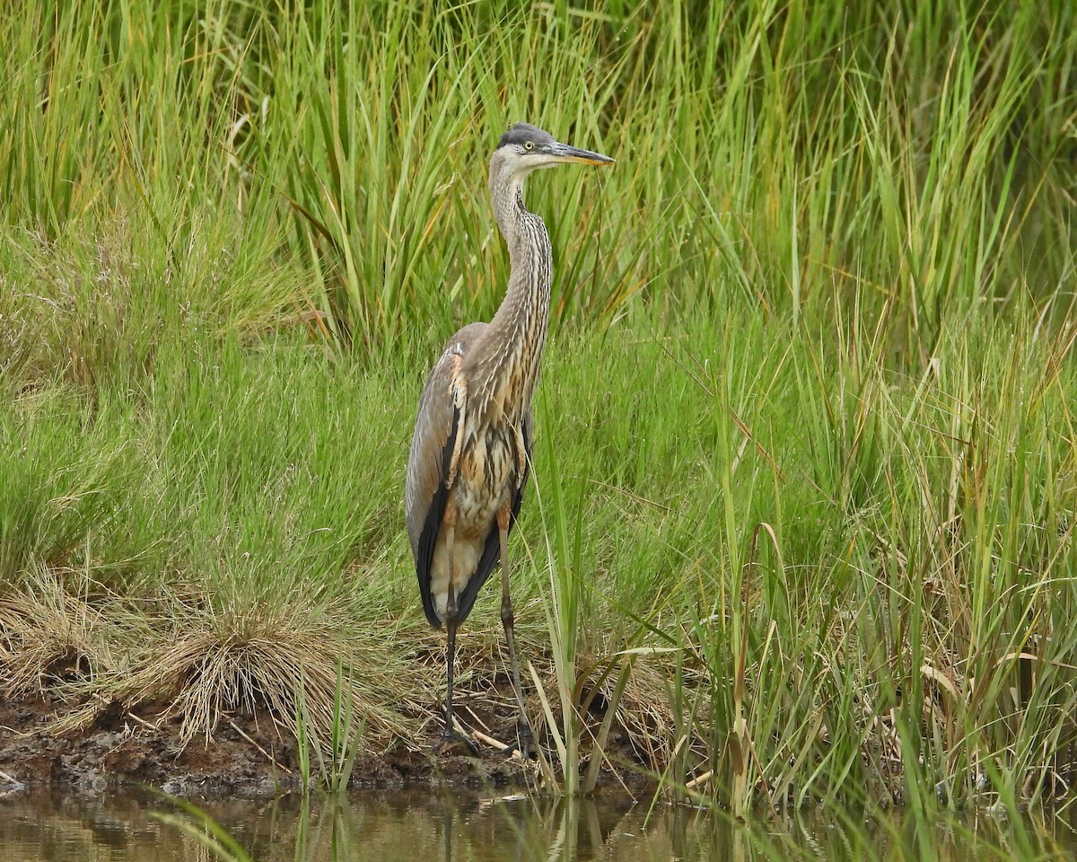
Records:
[[[499,558],[521,753],[531,742],[513,638],[507,542],[531,459],[531,398],[546,344],[553,260],[546,225],[523,206],[522,191],[532,170],[570,162],[614,159],[559,143],[527,123],[501,136],[490,158],[490,196],[508,246],[508,289],[493,320],[471,323],[449,339],[419,399],[407,467],[407,530],[426,620],[435,628],[444,623],[449,641],[445,732],[435,751],[458,740],[475,750],[453,724],[457,629]]]

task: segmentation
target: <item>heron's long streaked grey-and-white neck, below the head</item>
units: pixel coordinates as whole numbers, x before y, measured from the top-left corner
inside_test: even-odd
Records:
[[[481,409],[519,423],[538,379],[549,318],[553,255],[543,220],[523,206],[523,176],[500,152],[490,159],[490,197],[508,246],[508,289],[484,333],[472,392]]]

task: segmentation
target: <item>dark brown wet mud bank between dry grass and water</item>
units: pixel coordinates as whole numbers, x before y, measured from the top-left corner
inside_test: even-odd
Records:
[[[0,703],[0,790],[12,780],[27,788],[52,787],[98,794],[117,782],[137,782],[180,796],[271,796],[300,787],[297,750],[290,728],[265,710],[224,715],[210,739],[186,746],[181,721],[164,704],[126,709],[113,704],[78,731],[54,732],[71,707],[43,695]],[[494,727],[509,738],[512,725]],[[439,753],[429,738],[400,742],[360,755],[350,787],[382,791],[421,787],[528,789],[540,784],[534,763],[506,757],[481,746],[479,756]],[[621,759],[621,762],[625,762]],[[606,774],[602,783],[642,792],[647,780],[635,769]]]

